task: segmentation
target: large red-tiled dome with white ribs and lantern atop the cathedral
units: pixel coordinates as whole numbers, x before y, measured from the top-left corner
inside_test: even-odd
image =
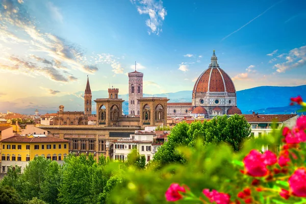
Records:
[[[236,93],[235,85],[228,74],[219,67],[215,50],[211,58],[211,64],[197,79],[193,87],[193,93],[203,92],[227,92]]]

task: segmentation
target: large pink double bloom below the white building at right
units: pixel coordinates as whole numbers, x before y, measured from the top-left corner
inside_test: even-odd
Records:
[[[258,150],[251,150],[243,159],[245,171],[251,176],[265,176],[268,174],[267,165],[277,162],[276,155],[271,151],[261,154]]]

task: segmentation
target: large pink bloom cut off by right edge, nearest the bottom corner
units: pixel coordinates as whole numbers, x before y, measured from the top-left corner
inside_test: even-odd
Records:
[[[288,180],[292,194],[298,197],[306,197],[306,171],[298,168]]]

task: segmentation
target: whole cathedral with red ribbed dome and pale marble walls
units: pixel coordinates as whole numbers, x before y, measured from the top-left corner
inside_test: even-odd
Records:
[[[167,115],[172,117],[241,114],[237,108],[235,85],[228,74],[219,67],[213,51],[211,63],[194,84],[191,103],[168,103]]]

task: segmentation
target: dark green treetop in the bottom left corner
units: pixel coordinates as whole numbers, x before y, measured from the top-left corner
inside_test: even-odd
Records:
[[[23,203],[16,190],[10,186],[0,186],[0,203],[21,204]]]

